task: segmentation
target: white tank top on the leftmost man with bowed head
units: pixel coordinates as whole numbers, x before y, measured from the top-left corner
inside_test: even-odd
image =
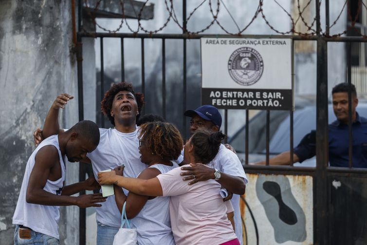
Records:
[[[25,200],[29,176],[35,166],[35,157],[37,152],[44,146],[53,145],[58,151],[61,166],[61,178],[56,181],[47,180],[44,190],[60,195],[65,180],[65,164],[58,145],[57,135],[53,135],[43,140],[32,155],[29,157],[27,166],[25,167],[22,186],[20,188],[17,207],[13,216],[13,224],[23,225],[34,231],[55,237],[59,239],[58,220],[60,218],[59,206],[44,206],[39,204],[30,204]]]

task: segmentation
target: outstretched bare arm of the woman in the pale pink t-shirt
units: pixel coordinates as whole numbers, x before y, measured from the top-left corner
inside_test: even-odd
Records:
[[[139,195],[144,196],[162,196],[162,186],[158,178],[151,179],[136,179],[116,175],[115,171],[99,172],[98,182],[100,185],[117,185],[119,187],[128,189]]]

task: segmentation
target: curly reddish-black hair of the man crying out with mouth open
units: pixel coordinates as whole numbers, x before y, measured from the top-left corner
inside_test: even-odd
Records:
[[[112,108],[113,98],[120,91],[128,91],[134,95],[136,103],[138,104],[138,112],[139,112],[139,114],[136,116],[136,120],[139,119],[140,112],[142,111],[144,105],[144,94],[135,93],[131,83],[126,82],[114,83],[111,86],[111,88],[108,91],[106,91],[105,97],[101,102],[101,111],[103,114],[107,115],[113,126],[115,126],[115,120],[113,116],[111,116],[110,111]]]

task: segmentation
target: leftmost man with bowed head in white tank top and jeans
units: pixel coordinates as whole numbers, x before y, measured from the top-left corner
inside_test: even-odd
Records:
[[[77,162],[99,143],[98,126],[81,121],[69,131],[42,141],[28,159],[17,207],[13,216],[14,244],[59,244],[59,206],[101,207],[100,193],[70,196],[81,190],[98,188],[95,179],[63,187],[66,156]]]

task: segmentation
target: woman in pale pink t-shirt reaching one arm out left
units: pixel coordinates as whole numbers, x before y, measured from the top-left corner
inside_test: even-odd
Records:
[[[224,136],[221,132],[196,131],[185,144],[185,162],[209,163]],[[99,172],[98,180],[101,185],[115,184],[140,195],[171,196],[169,211],[177,245],[239,245],[226,215],[233,207],[223,202],[220,184],[211,179],[188,185],[181,172],[176,168],[148,180],[118,176],[115,171]]]

